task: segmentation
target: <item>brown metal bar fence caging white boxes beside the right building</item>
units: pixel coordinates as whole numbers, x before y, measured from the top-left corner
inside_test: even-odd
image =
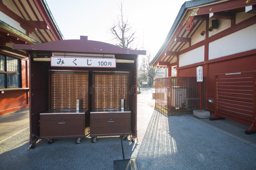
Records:
[[[205,101],[205,78],[202,83],[202,106]],[[177,115],[200,108],[199,82],[196,77],[165,77],[156,79],[156,109]]]

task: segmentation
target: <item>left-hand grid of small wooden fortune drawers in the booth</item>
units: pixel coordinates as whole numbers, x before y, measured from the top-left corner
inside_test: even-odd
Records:
[[[88,109],[88,72],[52,71],[50,82],[50,109]]]

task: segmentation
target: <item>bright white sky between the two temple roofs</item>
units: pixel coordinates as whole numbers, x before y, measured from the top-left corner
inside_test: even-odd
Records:
[[[120,14],[121,0],[46,0],[64,39],[113,42],[109,28]],[[185,0],[123,0],[124,16],[136,31],[137,47],[154,57]],[[142,49],[142,48],[141,48]]]

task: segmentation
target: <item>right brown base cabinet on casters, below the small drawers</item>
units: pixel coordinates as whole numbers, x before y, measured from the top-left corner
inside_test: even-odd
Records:
[[[91,136],[117,136],[131,133],[131,113],[91,113]]]

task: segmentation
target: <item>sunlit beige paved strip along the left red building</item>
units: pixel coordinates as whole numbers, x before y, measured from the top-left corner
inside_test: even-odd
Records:
[[[29,127],[29,108],[0,117],[0,143]]]

